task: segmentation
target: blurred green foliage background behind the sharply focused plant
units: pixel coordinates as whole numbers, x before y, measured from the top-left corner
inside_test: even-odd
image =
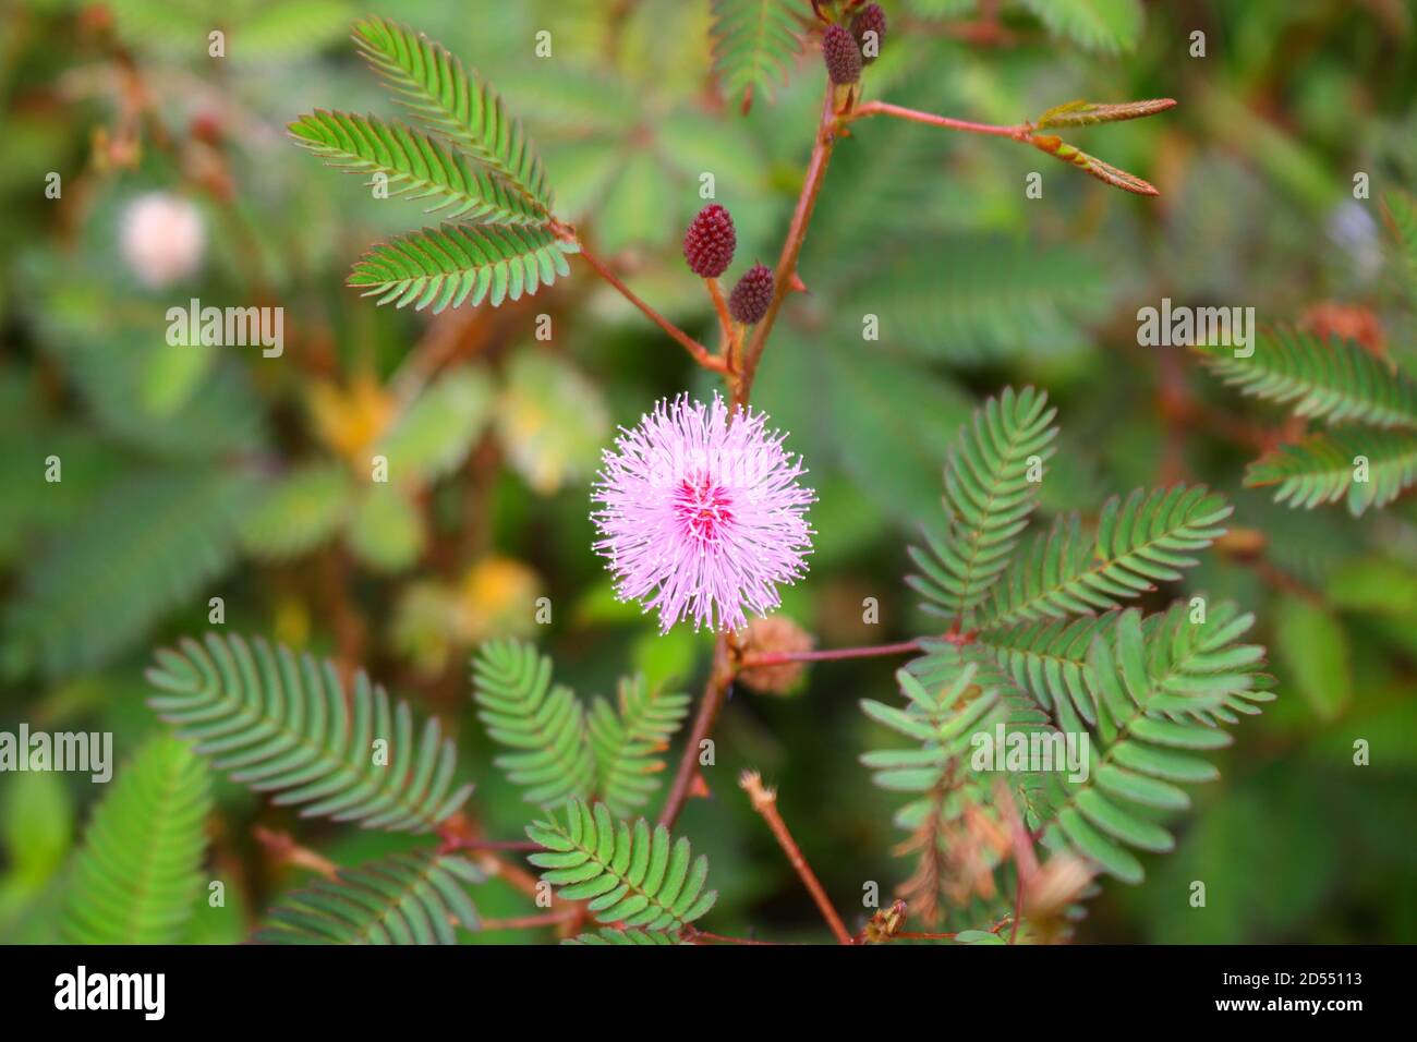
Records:
[[[1179,105],[1070,135],[1155,183],[1156,200],[1005,140],[896,121],[840,143],[802,254],[811,292],[785,309],[754,390],[819,495],[812,570],[784,614],[828,648],[934,631],[903,577],[918,522],[939,510],[945,448],[982,396],[1046,387],[1063,448],[1044,516],[1182,479],[1233,496],[1233,534],[1166,593],[1255,611],[1281,692],[1237,729],[1221,781],[1195,791],[1178,849],[1144,858],[1141,886],[1108,883],[1077,939],[1417,940],[1417,508],[1353,520],[1240,489],[1289,421],[1135,336],[1136,309],[1169,296],[1340,329],[1411,360],[1413,302],[1379,200],[1417,184],[1414,6],[884,7],[871,98],[1000,123],[1074,98]],[[635,671],[697,695],[711,637],[659,637],[614,600],[589,550],[588,483],[618,424],[713,386],[575,258],[534,298],[438,318],[343,285],[374,240],[425,223],[285,133],[315,108],[395,115],[347,38],[364,14],[476,67],[540,146],[558,213],[700,339],[714,316],[679,252],[700,173],[738,227],[731,275],[775,261],[819,58],[786,62],[744,115],[714,75],[707,0],[0,3],[0,729],[111,730],[122,761],[159,729],[143,703],[153,648],[203,632],[220,597],[228,631],[363,665],[439,715],[478,783],[469,808],[489,835],[519,838],[533,808],[492,768],[468,655],[521,635],[582,696]],[[208,57],[213,28],[222,58]],[[536,58],[543,30],[551,57]],[[1040,200],[1023,193],[1034,170]],[[1359,172],[1369,200],[1353,197]],[[282,354],[169,347],[164,313],[190,298],[282,306]],[[862,340],[866,313],[879,342]],[[391,444],[417,462],[371,485],[356,461]],[[61,482],[45,481],[50,456]],[[534,622],[541,597],[550,625]],[[862,622],[867,597],[879,625]],[[857,702],[896,698],[896,665],[818,665],[786,696],[735,692],[714,798],[682,819],[710,855],[716,930],[825,936],[727,781],[744,766],[778,784],[853,926],[866,880],[884,895],[910,873],[891,855],[900,800],[857,763],[881,737]],[[1367,767],[1353,766],[1359,739]],[[99,795],[85,775],[0,775],[0,939],[52,937]],[[339,863],[410,842],[303,822],[220,783],[213,856],[232,882],[224,916],[200,917],[193,940],[241,940],[309,882],[258,825]],[[1204,910],[1187,902],[1196,879]],[[497,882],[476,899],[489,916],[527,912]]]

